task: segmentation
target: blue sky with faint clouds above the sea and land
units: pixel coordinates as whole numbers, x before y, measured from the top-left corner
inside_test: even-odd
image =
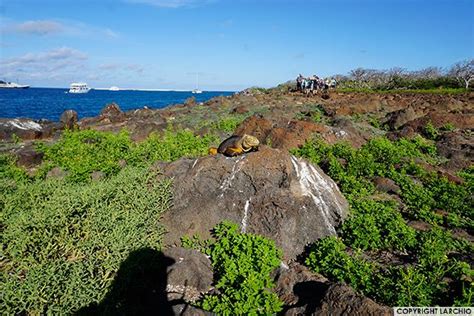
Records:
[[[2,0],[0,78],[240,90],[474,56],[473,0]]]

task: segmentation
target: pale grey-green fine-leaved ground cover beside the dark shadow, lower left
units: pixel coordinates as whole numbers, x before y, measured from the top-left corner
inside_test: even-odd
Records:
[[[127,167],[88,185],[62,180],[0,182],[1,310],[71,314],[99,302],[128,254],[159,249],[170,183]]]

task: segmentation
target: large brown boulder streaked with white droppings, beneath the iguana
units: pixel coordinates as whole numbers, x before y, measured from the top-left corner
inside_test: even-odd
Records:
[[[183,235],[210,237],[227,219],[242,232],[264,235],[292,259],[305,245],[336,234],[348,204],[337,185],[318,167],[285,150],[260,151],[157,163],[173,179],[174,205],[162,223],[165,244]]]

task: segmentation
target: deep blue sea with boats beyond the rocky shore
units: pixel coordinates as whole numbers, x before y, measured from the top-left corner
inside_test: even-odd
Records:
[[[117,103],[122,111],[147,106],[160,109],[183,103],[194,96],[197,102],[205,102],[216,96],[232,95],[234,92],[204,91],[136,91],[136,90],[91,90],[89,93],[66,93],[68,89],[29,88],[0,89],[0,118],[26,117],[58,121],[65,110],[75,110],[79,118],[96,116],[102,108]]]

